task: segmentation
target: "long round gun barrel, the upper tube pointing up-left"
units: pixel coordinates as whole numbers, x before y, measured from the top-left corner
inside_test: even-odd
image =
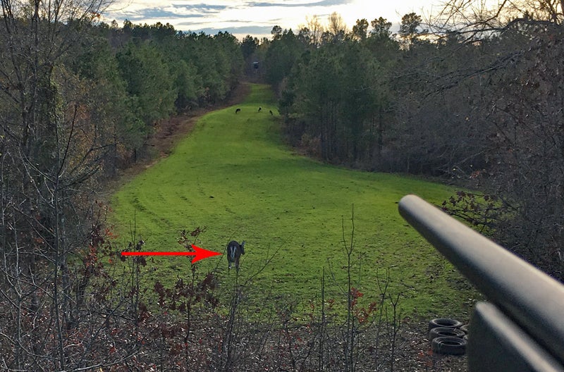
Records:
[[[564,361],[564,285],[415,195],[403,197],[399,211],[490,302]]]

